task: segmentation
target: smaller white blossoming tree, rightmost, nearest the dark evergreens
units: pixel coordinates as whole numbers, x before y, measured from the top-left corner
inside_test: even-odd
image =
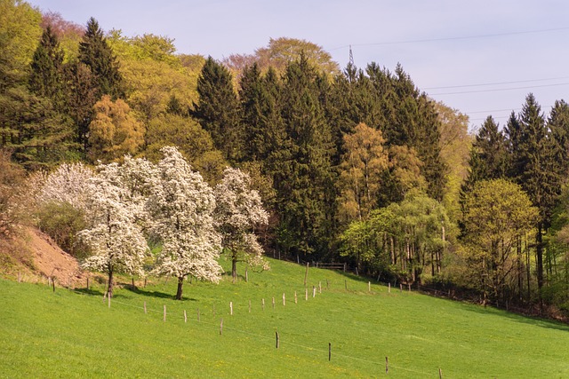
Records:
[[[251,178],[239,169],[227,168],[215,186],[215,223],[221,234],[224,251],[231,255],[231,275],[236,280],[236,264],[245,260],[249,265],[268,268],[262,258],[263,249],[253,233],[254,228],[268,224],[260,195],[251,189]]]

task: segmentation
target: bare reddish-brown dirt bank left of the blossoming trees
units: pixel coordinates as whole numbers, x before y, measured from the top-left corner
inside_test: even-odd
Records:
[[[36,274],[55,277],[61,285],[75,284],[85,278],[75,257],[60,249],[45,233],[28,228],[28,249],[32,253]]]

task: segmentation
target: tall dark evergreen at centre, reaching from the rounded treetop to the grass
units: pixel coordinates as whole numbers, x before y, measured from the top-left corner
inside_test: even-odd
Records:
[[[317,81],[316,70],[304,56],[286,69],[282,102],[290,160],[282,163],[276,189],[284,249],[322,256],[334,235],[334,144]]]

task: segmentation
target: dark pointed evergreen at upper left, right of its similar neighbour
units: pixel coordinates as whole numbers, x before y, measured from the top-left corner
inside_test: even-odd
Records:
[[[97,20],[87,21],[83,41],[79,43],[79,61],[91,69],[96,97],[109,95],[112,99],[124,98],[123,76],[118,61],[99,28]]]

